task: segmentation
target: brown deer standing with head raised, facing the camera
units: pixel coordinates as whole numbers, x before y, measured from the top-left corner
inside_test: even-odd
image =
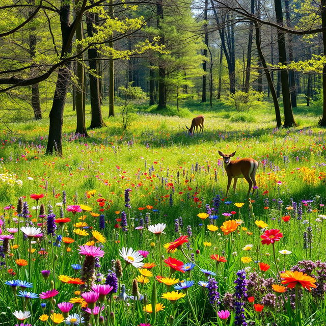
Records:
[[[223,157],[224,168],[228,176],[226,196],[228,195],[232,179],[234,179],[233,189],[235,191],[238,178],[244,178],[249,183],[249,190],[247,194],[247,197],[249,197],[252,186],[254,185],[254,187],[256,187],[257,184],[255,175],[258,169],[258,162],[253,158],[240,158],[231,161],[230,158],[234,156],[235,152],[232,154],[223,154],[221,151],[219,151],[219,154]],[[253,189],[253,194],[254,192],[255,188]]]

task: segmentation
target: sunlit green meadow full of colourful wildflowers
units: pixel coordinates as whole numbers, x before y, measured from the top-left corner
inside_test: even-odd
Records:
[[[63,157],[44,155],[47,118],[7,123],[0,324],[326,324],[318,112],[302,101],[276,129],[269,105],[183,106],[139,105],[127,130],[117,114],[88,138],[67,106]],[[219,150],[259,162],[249,199],[245,180],[225,197]]]

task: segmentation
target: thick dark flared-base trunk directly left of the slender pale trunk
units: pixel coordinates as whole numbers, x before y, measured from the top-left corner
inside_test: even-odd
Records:
[[[87,25],[88,37],[93,37],[94,34],[96,33],[93,24],[96,24],[95,14],[92,12],[87,12],[86,25]],[[96,72],[97,75],[99,74],[98,57],[99,57],[98,51],[96,48],[88,49],[88,64],[90,70],[93,71],[93,73],[89,73],[91,116],[92,116],[90,129],[100,128],[105,126],[105,123],[102,119],[99,79],[96,76],[94,76],[94,72]]]

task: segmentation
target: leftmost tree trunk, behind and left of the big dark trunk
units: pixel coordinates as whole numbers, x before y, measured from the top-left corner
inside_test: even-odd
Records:
[[[35,0],[30,0],[29,3],[33,6],[35,6]],[[30,7],[29,9],[29,17],[33,15],[34,8]],[[36,28],[32,27],[30,28],[30,56],[31,59],[34,60],[36,56],[36,35],[35,35]],[[31,75],[34,74],[35,69],[31,69]],[[40,92],[39,92],[39,84],[32,85],[32,108],[34,111],[34,118],[36,120],[42,119],[42,111],[41,111],[41,103],[40,103]]]

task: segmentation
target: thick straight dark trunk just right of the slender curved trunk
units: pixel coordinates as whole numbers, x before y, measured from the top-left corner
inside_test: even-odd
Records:
[[[283,12],[281,0],[274,0],[275,4],[275,14],[276,21],[279,25],[283,26]],[[278,46],[279,46],[279,58],[280,63],[283,65],[287,64],[286,61],[286,46],[284,33],[280,30],[277,32]],[[295,126],[292,106],[291,106],[291,96],[290,96],[290,85],[289,85],[289,75],[287,69],[281,69],[281,86],[282,86],[282,97],[283,97],[283,110],[284,110],[284,127]]]

